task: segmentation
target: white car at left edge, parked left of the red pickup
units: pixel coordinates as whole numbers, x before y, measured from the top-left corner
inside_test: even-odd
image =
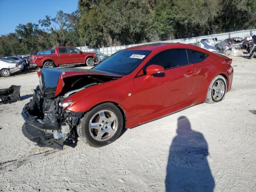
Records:
[[[24,65],[22,62],[12,61],[12,60],[4,60],[0,58],[0,75],[2,77],[8,77],[13,73],[19,72],[24,69]]]

